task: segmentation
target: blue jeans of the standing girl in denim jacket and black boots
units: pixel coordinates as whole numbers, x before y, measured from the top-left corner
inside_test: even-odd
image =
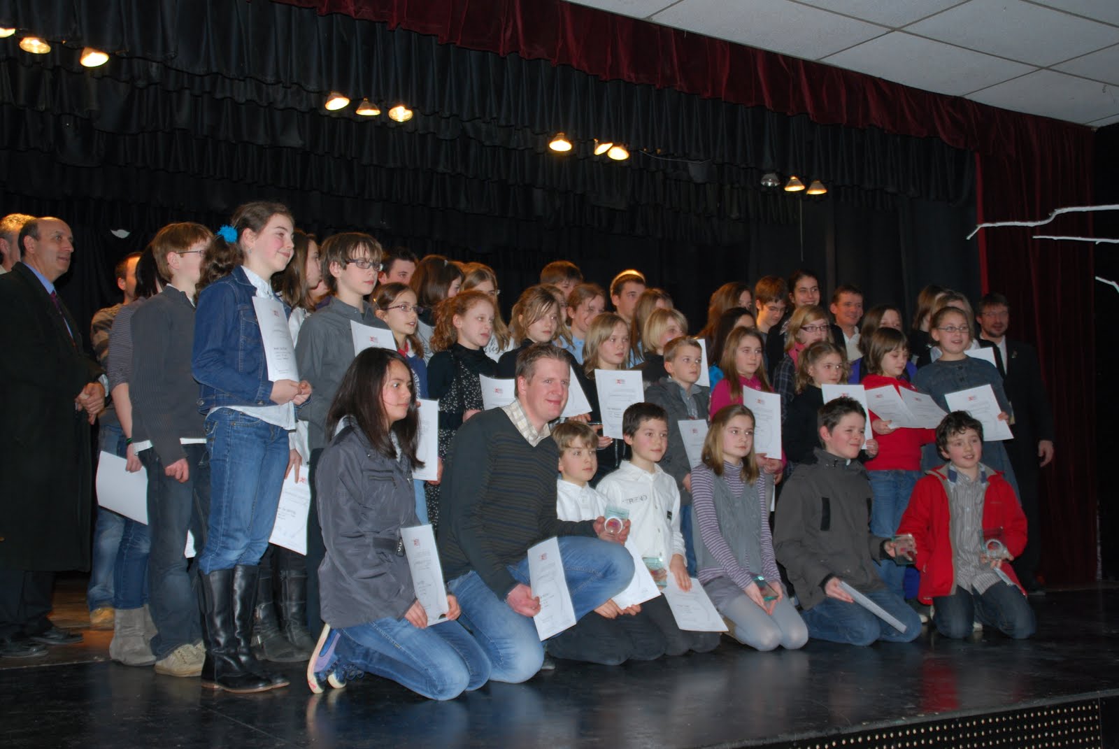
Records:
[[[288,467],[288,430],[233,409],[206,416],[210,509],[203,574],[254,565],[269,545]]]

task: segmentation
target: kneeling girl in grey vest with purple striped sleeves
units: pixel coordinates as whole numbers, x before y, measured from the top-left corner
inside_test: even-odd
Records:
[[[744,405],[724,406],[712,419],[703,464],[693,469],[699,582],[730,635],[759,650],[808,642],[773,558],[772,484],[754,457],[754,414]]]

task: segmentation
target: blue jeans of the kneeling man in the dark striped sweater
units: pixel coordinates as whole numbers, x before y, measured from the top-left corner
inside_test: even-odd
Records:
[[[560,555],[566,573],[567,590],[581,619],[624,590],[633,579],[633,558],[621,544],[585,536],[560,539]],[[509,573],[528,584],[528,558],[509,565]],[[460,620],[489,657],[496,682],[517,684],[532,678],[544,663],[544,646],[536,625],[497,597],[477,572],[468,572],[450,582],[448,589],[459,598]]]

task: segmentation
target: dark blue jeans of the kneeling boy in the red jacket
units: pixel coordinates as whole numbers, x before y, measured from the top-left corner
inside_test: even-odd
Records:
[[[1017,586],[1005,582],[996,582],[982,594],[957,586],[951,596],[933,598],[932,606],[932,622],[944,637],[967,637],[977,619],[1014,639],[1025,639],[1037,629],[1037,619],[1026,597]]]

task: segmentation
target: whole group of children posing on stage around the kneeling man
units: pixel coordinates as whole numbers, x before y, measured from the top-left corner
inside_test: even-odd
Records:
[[[483,408],[479,375],[516,373],[518,356],[538,345],[567,352],[591,406],[551,432],[558,518],[624,517],[626,543],[653,578],[683,590],[697,579],[740,643],[765,650],[809,637],[912,640],[921,620],[904,600],[905,563],[921,572],[915,598],[933,605],[941,634],[962,636],[972,622],[1032,634],[1033,614],[1004,563],[1021,552],[1026,528],[1002,443],[984,441],[981,425],[961,412],[935,430],[894,428],[821,393],[850,376],[867,387],[921,387],[943,408],[947,393],[991,384],[1008,412],[997,371],[965,353],[971,320],[959,307],[930,310],[928,340],[914,341],[892,309],[871,310],[875,325],[855,329],[862,294],[853,287],[837,291],[838,326],[830,325],[808,272],[788,285],[775,277],[753,290],[727,283],[712,296],[699,336],[713,362],[704,373],[687,319],[638,271],[603,289],[571,263],[551,263],[507,327],[497,275],[481,263],[386,254],[360,233],[321,247],[297,240],[285,207],[254,203],[217,235],[172,224],[148,250],[164,285],[133,321],[125,438],[148,470],[151,553],[161,554],[161,572],[148,581],[151,618],[159,637],[164,626],[176,633],[154,654],[162,673],[256,692],[288,683],[258,657],[309,657],[312,689],[364,672],[436,699],[485,683],[489,664],[471,645],[469,622],[457,621],[454,597],[430,621],[412,593],[399,528],[431,523],[439,532],[442,464],[459,428]],[[265,310],[289,317],[299,380],[269,377]],[[396,350],[355,355],[355,325],[387,329]],[[914,350],[921,346],[935,357],[914,376],[910,358],[927,354]],[[862,354],[856,367],[850,350]],[[626,411],[624,439],[612,440],[601,434],[594,378],[624,368],[642,372],[645,402]],[[702,374],[713,387],[698,384]],[[780,455],[754,450],[747,388],[781,394]],[[439,410],[438,478],[422,484],[412,480],[420,397]],[[681,422],[706,422],[698,464],[688,459]],[[295,656],[272,657],[260,636],[274,614],[261,610],[262,599],[272,606],[261,568],[273,563],[265,553],[292,470],[309,470],[312,487],[299,571],[305,590],[293,592],[300,606],[285,608]],[[175,624],[198,614],[187,563],[168,551],[168,539],[181,541],[188,528],[199,550],[201,642],[197,628]],[[892,624],[855,602],[863,597]],[[308,631],[322,621],[329,626],[309,648]],[[328,640],[331,627],[347,636]],[[158,642],[143,629],[117,635]],[[552,638],[548,652],[621,663],[717,644],[717,633],[681,630],[656,597],[626,608],[604,601]],[[132,663],[142,661],[151,662]]]

